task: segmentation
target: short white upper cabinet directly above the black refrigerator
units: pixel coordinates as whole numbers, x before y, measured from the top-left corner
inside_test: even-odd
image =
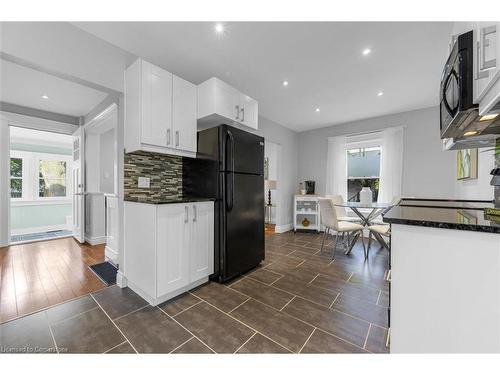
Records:
[[[218,78],[198,85],[198,123],[242,124],[258,128],[258,103]]]

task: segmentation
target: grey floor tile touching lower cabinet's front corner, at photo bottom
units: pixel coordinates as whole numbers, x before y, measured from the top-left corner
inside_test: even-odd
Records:
[[[153,306],[133,312],[115,322],[139,353],[170,353],[192,336]]]

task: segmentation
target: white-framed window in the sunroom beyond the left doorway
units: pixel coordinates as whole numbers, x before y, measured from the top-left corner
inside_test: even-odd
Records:
[[[70,155],[11,151],[13,201],[65,200],[70,197]]]

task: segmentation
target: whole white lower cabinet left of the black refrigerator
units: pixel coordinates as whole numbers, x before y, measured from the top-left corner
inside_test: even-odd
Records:
[[[125,202],[128,286],[157,305],[206,281],[214,270],[213,202]]]

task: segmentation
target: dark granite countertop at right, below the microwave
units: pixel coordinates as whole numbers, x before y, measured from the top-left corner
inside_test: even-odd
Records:
[[[474,207],[474,202],[459,202],[453,207],[446,204],[394,206],[384,215],[384,222],[391,224],[416,225],[423,227],[470,230],[475,232],[500,233],[500,217],[484,215],[484,205]],[[492,206],[492,205],[490,205]]]

